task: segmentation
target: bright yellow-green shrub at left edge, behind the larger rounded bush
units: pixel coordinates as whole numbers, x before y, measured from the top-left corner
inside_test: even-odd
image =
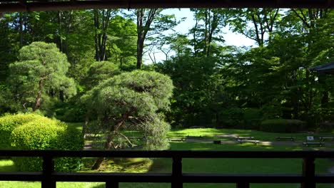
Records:
[[[0,147],[1,149],[10,149],[11,142],[10,136],[11,132],[14,130],[15,127],[19,125],[23,125],[27,122],[31,122],[33,120],[47,120],[47,117],[42,115],[37,115],[34,113],[19,113],[14,115],[4,115],[0,117]]]

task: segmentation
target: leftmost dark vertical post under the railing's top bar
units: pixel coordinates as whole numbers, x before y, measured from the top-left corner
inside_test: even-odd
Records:
[[[54,160],[51,156],[43,156],[43,180],[41,188],[56,188],[56,181],[52,179],[54,172]]]

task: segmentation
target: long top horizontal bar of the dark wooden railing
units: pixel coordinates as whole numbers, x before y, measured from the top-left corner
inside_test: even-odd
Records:
[[[0,150],[0,157],[332,158],[334,151]]]

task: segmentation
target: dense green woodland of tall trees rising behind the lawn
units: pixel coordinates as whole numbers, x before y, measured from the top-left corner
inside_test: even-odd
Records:
[[[148,87],[150,76],[134,71],[141,69],[173,81],[172,97],[169,91],[164,96],[145,90],[154,100],[145,100],[154,105],[147,108],[159,112],[149,115],[146,123],[165,120],[172,127],[259,129],[265,120],[292,119],[311,130],[330,128],[323,122],[334,122],[334,77],[308,68],[334,61],[333,10],[191,11],[196,24],[187,35],[163,32],[183,20],[162,9],[1,13],[0,113],[38,111],[88,124],[100,117],[100,107],[112,108],[103,106],[106,103],[98,96],[104,94],[94,94],[93,88],[103,80],[123,87],[131,76],[139,76],[135,78]],[[256,46],[226,46],[222,31],[226,27],[251,38]],[[155,61],[156,51],[166,59]],[[36,63],[36,56],[44,63]],[[153,63],[145,62],[149,58]],[[123,74],[127,72],[136,75]],[[163,79],[154,87],[168,83]],[[129,82],[128,87],[141,88]],[[167,85],[161,90],[172,89]],[[110,105],[134,100],[138,103],[138,98],[129,97]],[[169,103],[171,107],[165,108]]]

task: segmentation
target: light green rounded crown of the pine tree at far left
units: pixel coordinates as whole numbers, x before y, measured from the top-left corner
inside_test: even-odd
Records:
[[[19,51],[19,61],[9,65],[11,93],[24,108],[40,108],[43,100],[62,93],[76,95],[74,80],[66,77],[69,62],[54,43],[34,42]]]

